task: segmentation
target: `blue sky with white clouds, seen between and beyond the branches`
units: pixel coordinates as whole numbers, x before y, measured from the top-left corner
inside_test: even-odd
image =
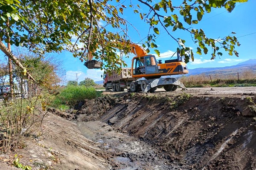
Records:
[[[130,1],[129,1],[130,2]],[[175,2],[175,1],[173,1]],[[177,2],[177,1],[176,1]],[[128,6],[128,5],[127,5]],[[143,4],[140,5],[140,12],[147,13],[148,11],[143,11]],[[236,46],[236,51],[239,52],[239,57],[235,55],[229,56],[227,52],[224,52],[222,57],[216,56],[214,60],[211,60],[211,52],[207,55],[198,55],[196,50],[194,50],[194,62],[190,61],[187,63],[189,69],[194,68],[209,68],[209,67],[225,67],[230,65],[236,65],[240,62],[247,61],[249,59],[256,59],[255,49],[256,49],[256,0],[248,0],[247,3],[237,3],[236,7],[231,13],[228,13],[224,8],[212,8],[212,11],[208,14],[206,13],[201,22],[197,25],[192,25],[192,28],[202,28],[209,38],[218,39],[229,35],[231,32],[236,32],[235,36],[240,42],[240,46]],[[131,10],[127,8],[125,10]],[[124,10],[124,18],[129,20],[129,22],[137,28],[140,34],[132,26],[128,27],[128,34],[132,42],[141,43],[141,38],[144,38],[148,33],[149,26],[144,24],[140,20],[139,14],[133,14],[131,12]],[[192,12],[193,15],[193,12]],[[196,14],[194,14],[196,17]],[[194,18],[193,17],[193,18]],[[163,28],[158,27],[160,30],[160,35],[157,37],[157,46],[160,51],[160,57],[156,57],[157,60],[170,59],[174,51],[177,49],[177,42],[168,36]],[[188,26],[186,27],[188,28]],[[190,34],[186,34],[184,31],[176,30],[172,32],[174,37],[180,37],[186,40],[186,46],[190,48],[196,48]],[[231,34],[233,35],[233,34]],[[153,50],[152,50],[153,51]],[[153,51],[154,52],[154,51]],[[154,54],[154,53],[150,53]],[[78,82],[83,81],[85,78],[93,79],[94,81],[102,80],[101,74],[104,71],[100,69],[87,69],[84,66],[84,62],[81,62],[79,58],[74,58],[72,53],[64,51],[60,54],[53,54],[58,57],[58,59],[63,61],[63,66],[66,72],[66,80],[78,80]],[[155,56],[157,56],[155,54]],[[134,54],[131,54],[128,59],[125,59],[128,67],[131,67],[131,59]]]

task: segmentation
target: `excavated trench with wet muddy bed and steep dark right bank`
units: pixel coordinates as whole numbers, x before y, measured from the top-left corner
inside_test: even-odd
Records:
[[[85,100],[61,116],[102,144],[112,169],[256,170],[255,103],[254,94],[121,93]]]

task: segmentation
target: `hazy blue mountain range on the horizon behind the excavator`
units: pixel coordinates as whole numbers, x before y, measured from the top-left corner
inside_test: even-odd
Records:
[[[256,73],[256,59],[249,59],[245,62],[240,62],[237,65],[231,65],[227,67],[189,69],[189,73],[186,74],[186,76],[197,74],[237,74],[244,71],[252,71],[253,73]],[[95,83],[102,85],[103,80],[96,81]]]

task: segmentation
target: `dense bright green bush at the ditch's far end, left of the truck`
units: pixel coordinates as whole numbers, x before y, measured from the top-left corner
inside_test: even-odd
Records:
[[[96,91],[92,87],[68,85],[55,97],[52,106],[62,108],[62,105],[67,105],[71,108],[84,99],[95,99],[100,94],[100,91]]]

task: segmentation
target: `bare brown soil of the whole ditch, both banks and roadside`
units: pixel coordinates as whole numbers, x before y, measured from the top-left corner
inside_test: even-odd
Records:
[[[107,91],[49,109],[42,130],[17,150],[32,169],[256,170],[256,88]]]

